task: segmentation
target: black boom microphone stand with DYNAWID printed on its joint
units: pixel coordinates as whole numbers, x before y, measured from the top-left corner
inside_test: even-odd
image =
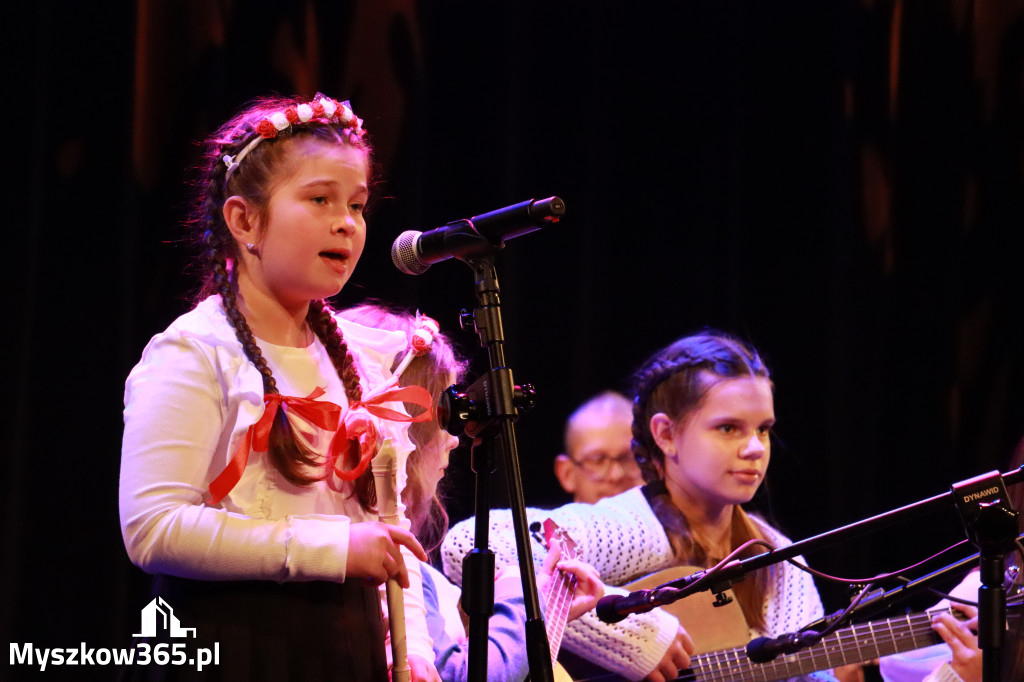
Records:
[[[992,471],[953,483],[950,492],[900,507],[849,525],[793,543],[748,559],[734,560],[719,569],[698,571],[652,591],[650,608],[672,603],[696,592],[722,593],[758,568],[807,554],[825,545],[869,530],[905,521],[936,509],[955,505],[971,542],[978,547],[981,587],[978,590],[978,647],[982,652],[983,682],[999,682],[1000,652],[1005,637],[1007,594],[1004,587],[1006,555],[1013,551],[1018,534],[1018,512],[1010,504],[1006,484],[1024,480],[1024,465],[1000,474]],[[675,588],[675,591],[672,589]],[[649,610],[649,609],[646,609]]]

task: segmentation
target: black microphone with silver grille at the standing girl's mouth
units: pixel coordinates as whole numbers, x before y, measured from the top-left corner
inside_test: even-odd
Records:
[[[500,248],[505,240],[558,222],[564,213],[565,203],[558,197],[549,197],[519,202],[425,232],[410,229],[394,241],[391,260],[406,274],[423,274],[442,260]]]

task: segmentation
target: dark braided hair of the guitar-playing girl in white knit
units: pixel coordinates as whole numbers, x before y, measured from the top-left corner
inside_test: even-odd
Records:
[[[680,424],[698,409],[719,382],[740,377],[769,379],[757,349],[716,330],[684,337],[651,355],[633,375],[633,455],[643,474],[651,509],[662,525],[677,560],[710,567],[715,559],[692,532],[686,516],[673,503],[665,485],[665,453],[650,430],[651,418],[664,413]],[[758,527],[737,505],[733,509],[731,549],[761,538]],[[752,550],[751,553],[755,553]],[[737,584],[733,592],[746,622],[763,628],[764,598],[771,568],[762,568]]]

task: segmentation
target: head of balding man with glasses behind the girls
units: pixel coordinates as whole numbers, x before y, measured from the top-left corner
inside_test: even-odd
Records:
[[[573,502],[593,504],[643,482],[633,459],[633,403],[614,391],[584,402],[565,423],[555,476]]]

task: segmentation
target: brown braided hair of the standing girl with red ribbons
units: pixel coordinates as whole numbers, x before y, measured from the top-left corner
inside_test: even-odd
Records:
[[[294,114],[296,108],[301,104],[308,106],[308,102],[297,97],[266,97],[254,101],[205,140],[202,160],[196,172],[197,178],[193,184],[194,200],[188,227],[191,240],[200,252],[197,269],[201,281],[196,300],[212,295],[220,296],[224,314],[233,328],[236,337],[249,361],[263,378],[263,391],[266,394],[280,391],[252,329],[239,308],[233,264],[239,261],[241,254],[224,220],[223,207],[229,197],[243,197],[256,207],[257,223],[265,224],[274,180],[288,163],[289,148],[296,139],[317,139],[325,143],[354,146],[366,155],[367,168],[372,167],[372,151],[361,130],[351,123],[341,122],[340,117],[324,116],[323,105],[318,102],[318,116],[301,125],[295,119],[295,125],[273,131],[268,136],[257,132],[257,126],[261,123],[265,125],[267,117],[275,112],[289,110],[290,115]],[[263,139],[255,142],[258,137]],[[240,159],[241,163],[231,167],[225,157]],[[345,395],[349,402],[353,402],[361,398],[362,389],[355,363],[333,312],[327,301],[310,301],[306,324],[326,347],[345,388]],[[278,412],[271,425],[267,454],[271,465],[296,485],[308,485],[328,475],[326,472],[308,472],[308,467],[316,466],[321,461],[296,437],[284,410]],[[355,463],[347,461],[345,464],[354,466]],[[355,482],[354,494],[365,508],[373,508],[376,504],[373,475],[369,470]]]

